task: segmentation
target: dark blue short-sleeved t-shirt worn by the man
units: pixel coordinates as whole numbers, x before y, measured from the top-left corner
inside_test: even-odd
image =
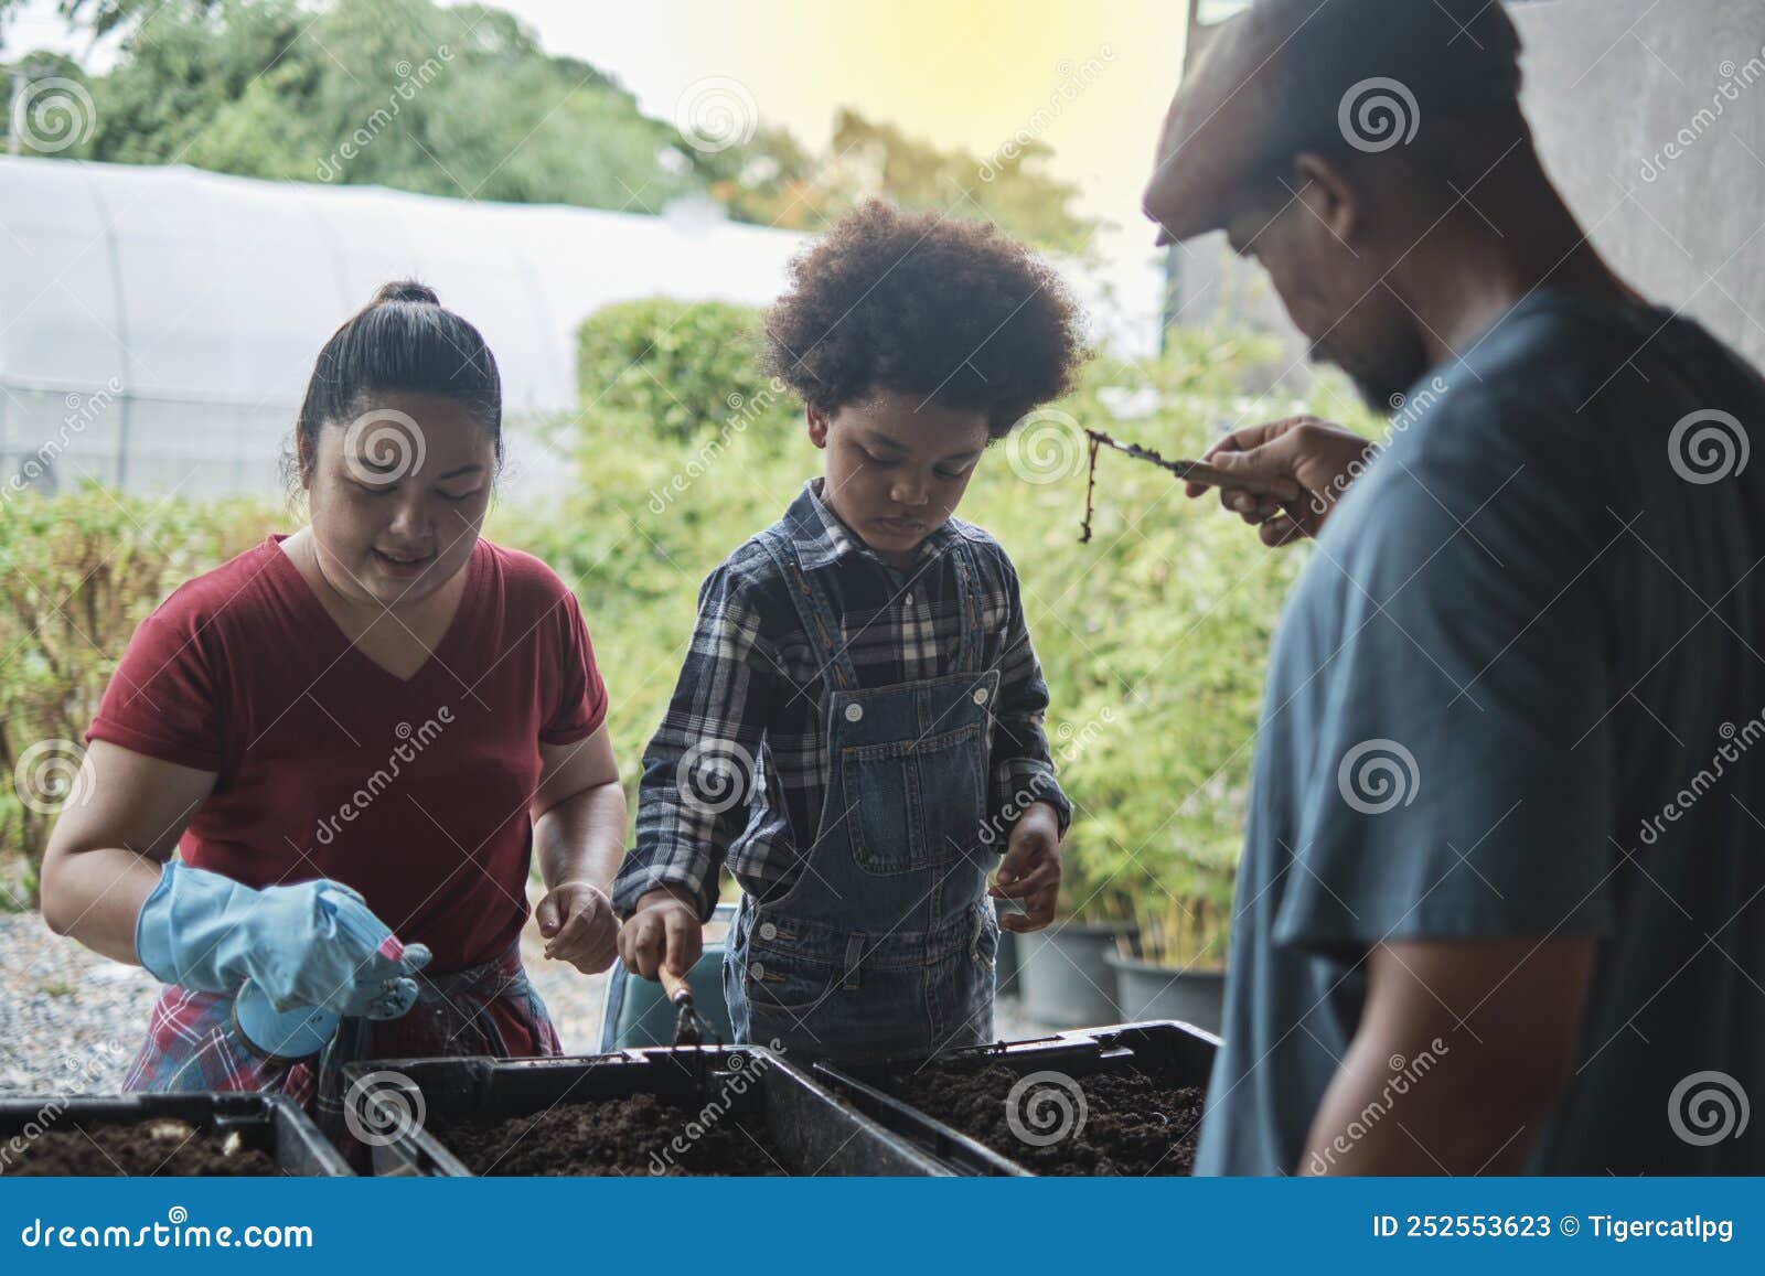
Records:
[[[1765,1170],[1761,427],[1551,291],[1414,387],[1274,639],[1197,1172],[1301,1168],[1375,944],[1532,935],[1601,941],[1532,1168]]]

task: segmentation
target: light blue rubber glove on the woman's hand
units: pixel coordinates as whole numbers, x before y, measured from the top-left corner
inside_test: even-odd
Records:
[[[136,916],[134,951],[162,983],[237,994],[249,980],[277,1011],[367,1018],[417,1004],[409,976],[431,957],[401,944],[342,882],[252,889],[176,861]]]

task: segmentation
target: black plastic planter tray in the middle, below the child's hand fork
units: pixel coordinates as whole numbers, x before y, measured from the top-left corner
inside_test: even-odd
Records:
[[[752,1078],[740,1094],[727,1085],[738,1071]],[[371,1140],[378,1175],[469,1177],[471,1170],[427,1130],[436,1117],[514,1117],[556,1103],[632,1094],[678,1100],[692,1112],[713,1100],[727,1103],[720,1119],[745,1122],[794,1175],[950,1174],[914,1142],[759,1047],[657,1047],[545,1059],[376,1059],[346,1070],[348,1089],[355,1091],[355,1082],[371,1073],[381,1073],[371,1092],[388,1096],[394,1121],[424,1114],[424,1122]]]

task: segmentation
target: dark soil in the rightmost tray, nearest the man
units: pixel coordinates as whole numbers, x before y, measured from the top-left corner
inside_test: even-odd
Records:
[[[941,1064],[900,1077],[890,1087],[921,1112],[978,1138],[1034,1174],[1188,1174],[1195,1165],[1205,1091],[1167,1085],[1140,1071],[1075,1078],[1084,1096],[1084,1124],[1063,1119],[1050,1096],[1041,1112],[1020,1101],[1018,1128],[1059,1140],[1038,1147],[1011,1130],[1006,1098],[1018,1073],[1003,1064]],[[1025,1100],[1043,1087],[1025,1091]],[[1070,1096],[1064,1096],[1070,1098]],[[1077,1112],[1077,1103],[1068,1105]],[[1040,1119],[1038,1119],[1040,1117]]]

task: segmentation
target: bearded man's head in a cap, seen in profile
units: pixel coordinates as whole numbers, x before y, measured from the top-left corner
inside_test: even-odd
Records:
[[[1313,357],[1391,406],[1446,344],[1424,295],[1504,238],[1486,210],[1553,198],[1518,53],[1498,0],[1257,0],[1170,104],[1145,187],[1160,242],[1227,231]]]

